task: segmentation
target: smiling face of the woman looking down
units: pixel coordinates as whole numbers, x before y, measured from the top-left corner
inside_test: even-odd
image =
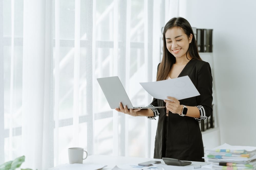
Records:
[[[175,58],[186,58],[192,34],[188,37],[182,28],[173,27],[165,32],[166,48]],[[189,57],[189,56],[188,56]]]

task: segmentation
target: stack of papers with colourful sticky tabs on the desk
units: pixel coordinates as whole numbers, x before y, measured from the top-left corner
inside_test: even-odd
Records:
[[[214,149],[206,149],[206,162],[212,169],[256,169],[256,147],[231,146],[227,143]]]

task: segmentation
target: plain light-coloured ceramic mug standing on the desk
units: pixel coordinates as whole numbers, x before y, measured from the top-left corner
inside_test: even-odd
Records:
[[[83,152],[86,153],[86,157],[83,158]],[[68,148],[68,160],[70,164],[79,163],[82,164],[83,160],[87,158],[88,153],[83,148]]]

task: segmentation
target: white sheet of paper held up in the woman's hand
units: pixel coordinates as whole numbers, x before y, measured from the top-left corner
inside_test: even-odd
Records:
[[[181,100],[200,95],[188,76],[140,84],[156,99],[164,100],[167,99],[167,96],[170,96]]]

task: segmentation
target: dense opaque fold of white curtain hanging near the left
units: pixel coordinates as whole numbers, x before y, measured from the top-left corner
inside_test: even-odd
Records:
[[[51,25],[51,3],[24,1],[23,8],[21,136],[22,154],[27,160],[23,167],[42,169],[45,168],[42,155],[49,147],[43,144],[52,139],[49,133],[51,32],[47,30]]]

